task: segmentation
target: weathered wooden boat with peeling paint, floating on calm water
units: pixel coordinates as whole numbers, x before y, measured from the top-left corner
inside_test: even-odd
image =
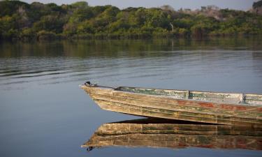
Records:
[[[81,86],[103,110],[211,124],[262,125],[262,95]]]

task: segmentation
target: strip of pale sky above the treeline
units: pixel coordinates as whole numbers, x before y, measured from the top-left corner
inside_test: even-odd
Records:
[[[57,3],[61,5],[63,3],[70,4],[74,3],[77,0],[22,0],[27,3],[32,3],[34,1],[38,1],[41,3]],[[81,1],[81,0],[78,0]],[[85,0],[84,0],[85,1]],[[175,10],[180,8],[190,8],[197,9],[201,8],[201,6],[218,6],[219,8],[230,8],[235,10],[249,10],[252,8],[252,4],[254,1],[258,0],[87,0],[89,6],[104,6],[104,5],[112,5],[117,6],[120,9],[128,8],[128,7],[159,7],[163,5],[170,5]]]

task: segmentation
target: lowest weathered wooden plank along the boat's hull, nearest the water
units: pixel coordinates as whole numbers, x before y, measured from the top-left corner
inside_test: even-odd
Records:
[[[159,110],[150,107],[141,107],[126,105],[122,103],[112,103],[105,100],[95,100],[95,102],[103,109],[126,114],[140,115],[144,117],[159,117],[165,119],[177,119],[183,121],[198,121],[212,124],[228,124],[228,125],[261,125],[259,119],[245,119],[239,117],[227,117],[225,115],[214,116],[212,114],[196,114],[192,112],[179,112],[170,110]]]

